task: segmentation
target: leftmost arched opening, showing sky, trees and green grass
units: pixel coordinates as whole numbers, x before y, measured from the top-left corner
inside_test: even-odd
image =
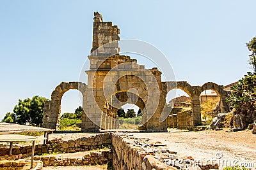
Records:
[[[80,131],[82,123],[83,108],[81,103],[81,92],[70,89],[61,98],[60,108],[60,130]]]

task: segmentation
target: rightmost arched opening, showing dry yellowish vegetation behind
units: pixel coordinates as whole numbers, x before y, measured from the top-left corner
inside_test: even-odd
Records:
[[[212,118],[220,113],[220,94],[216,90],[204,90],[200,94],[202,123],[211,124]]]

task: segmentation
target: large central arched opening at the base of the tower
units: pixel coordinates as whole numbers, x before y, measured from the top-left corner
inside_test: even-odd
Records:
[[[132,92],[116,92],[102,108],[101,129],[136,129],[143,124],[145,103]]]

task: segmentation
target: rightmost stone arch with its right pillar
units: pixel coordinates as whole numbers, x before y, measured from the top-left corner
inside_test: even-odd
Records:
[[[220,97],[220,112],[227,113],[228,112],[228,104],[226,103],[227,91],[224,90],[223,85],[218,85],[216,83],[207,82],[202,85],[202,89],[200,92],[204,92],[204,90],[214,90]]]

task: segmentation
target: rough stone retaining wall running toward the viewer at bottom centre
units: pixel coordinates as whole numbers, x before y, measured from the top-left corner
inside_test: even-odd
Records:
[[[143,141],[140,143],[143,143]],[[176,169],[154,158],[154,153],[143,150],[134,138],[122,134],[112,135],[113,169]],[[143,145],[143,144],[141,144]],[[168,158],[168,157],[167,157]]]

